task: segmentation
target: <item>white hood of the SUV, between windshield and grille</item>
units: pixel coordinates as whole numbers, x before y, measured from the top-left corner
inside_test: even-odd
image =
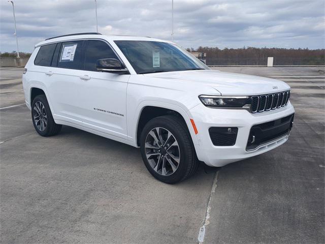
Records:
[[[254,75],[220,72],[218,70],[175,71],[145,74],[145,76],[182,81],[183,85],[210,86],[222,96],[261,95],[282,92],[290,88],[290,86],[280,80]]]

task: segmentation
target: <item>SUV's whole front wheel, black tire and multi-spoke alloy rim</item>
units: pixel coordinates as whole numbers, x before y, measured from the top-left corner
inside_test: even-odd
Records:
[[[167,184],[188,178],[199,165],[187,126],[175,115],[151,119],[141,132],[140,149],[149,172]]]

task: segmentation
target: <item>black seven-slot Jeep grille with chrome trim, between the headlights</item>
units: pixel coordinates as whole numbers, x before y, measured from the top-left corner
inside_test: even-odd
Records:
[[[261,113],[271,109],[281,108],[287,105],[289,98],[290,90],[281,93],[252,96],[250,111],[252,113]]]

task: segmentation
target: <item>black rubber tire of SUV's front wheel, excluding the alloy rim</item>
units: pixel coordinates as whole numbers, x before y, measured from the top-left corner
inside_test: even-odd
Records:
[[[147,156],[145,153],[145,147],[144,147],[145,140],[146,140],[147,134],[155,127],[161,127],[161,128],[169,130],[178,142],[178,146],[179,146],[179,150],[180,150],[180,163],[179,163],[177,170],[171,175],[165,176],[165,175],[158,174],[157,172],[155,172],[152,169],[152,167],[150,166],[150,164],[147,160]],[[188,143],[188,141],[186,142],[186,140],[191,140],[191,138],[189,137],[188,133],[186,133],[186,129],[187,128],[184,128],[184,125],[182,125],[182,130],[184,130],[186,137],[187,137],[187,138],[186,137],[184,138],[184,133],[182,135],[179,130],[177,130],[173,125],[170,125],[169,120],[164,119],[164,117],[157,117],[157,118],[151,119],[147,123],[147,125],[144,127],[144,129],[142,130],[141,139],[140,139],[142,159],[144,161],[146,168],[149,170],[149,172],[156,179],[163,181],[165,183],[168,183],[168,184],[174,184],[174,183],[185,178],[184,176],[186,175],[187,169],[188,169],[187,164],[191,163],[191,161],[193,160],[192,148],[187,148],[189,143]]]

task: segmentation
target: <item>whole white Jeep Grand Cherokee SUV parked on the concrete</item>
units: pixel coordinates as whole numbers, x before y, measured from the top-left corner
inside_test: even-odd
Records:
[[[41,136],[72,126],[141,148],[145,166],[173,184],[199,161],[223,166],[287,141],[290,87],[210,70],[175,43],[72,34],[36,45],[23,74]]]

